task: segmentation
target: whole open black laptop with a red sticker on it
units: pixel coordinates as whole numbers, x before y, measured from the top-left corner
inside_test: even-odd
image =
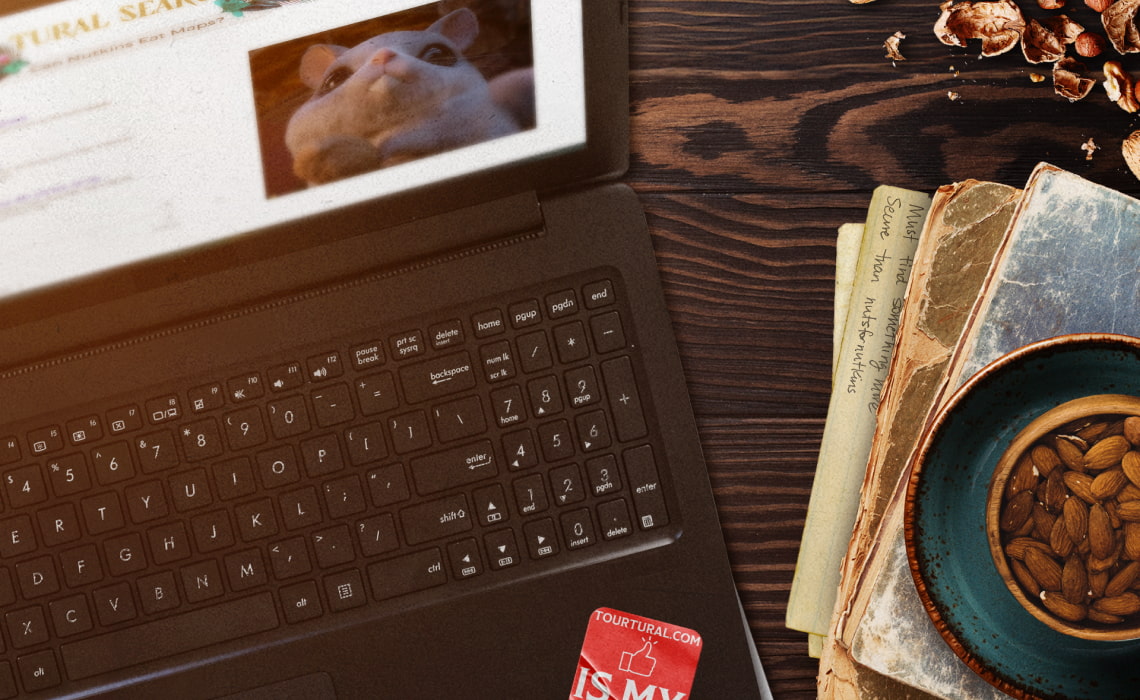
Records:
[[[769,697],[624,2],[17,5],[0,698]]]

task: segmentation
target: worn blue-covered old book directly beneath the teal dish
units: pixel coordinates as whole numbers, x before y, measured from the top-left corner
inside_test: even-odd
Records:
[[[1026,343],[1066,333],[1140,335],[1140,201],[1042,164],[1018,202],[935,404],[974,372]],[[905,569],[905,489],[885,512],[852,638],[855,660],[943,698],[1003,697],[938,636]],[[905,628],[907,634],[890,634]],[[891,665],[905,654],[906,662]],[[961,669],[961,670],[955,670]],[[970,687],[967,687],[970,685]]]

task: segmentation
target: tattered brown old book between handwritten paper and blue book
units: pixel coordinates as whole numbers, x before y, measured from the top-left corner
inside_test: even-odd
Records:
[[[934,196],[914,254],[906,304],[899,318],[898,339],[879,408],[879,426],[868,458],[831,634],[820,666],[821,698],[922,697],[917,690],[898,687],[889,675],[858,664],[852,646],[872,593],[866,583],[876,580],[881,568],[869,565],[878,544],[880,519],[898,488],[931,405],[945,382],[951,352],[1012,215],[1018,194],[1004,185],[971,180],[943,187]],[[895,551],[889,548],[887,554],[894,555]],[[880,562],[881,557],[876,563]],[[894,570],[898,562],[891,559],[885,563]],[[905,559],[899,571],[909,576]],[[909,580],[902,584],[910,585]],[[921,605],[918,613],[926,614]],[[865,646],[868,656],[874,652],[874,645]],[[886,670],[890,664],[876,666]]]

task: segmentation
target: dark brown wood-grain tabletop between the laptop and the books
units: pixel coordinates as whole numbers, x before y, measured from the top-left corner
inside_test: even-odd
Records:
[[[1032,17],[1057,14],[1019,3]],[[649,215],[736,583],[777,700],[815,695],[817,662],[784,611],[830,392],[837,228],[863,220],[879,184],[1021,186],[1041,161],[1140,194],[1121,155],[1134,115],[1099,84],[1080,103],[1054,96],[1051,65],[1019,49],[979,58],[979,42],[942,44],[938,5],[629,0],[627,181]],[[1069,6],[1101,29],[1082,0]],[[896,31],[905,62],[885,57]],[[1106,57],[1119,58],[1086,60],[1090,76]],[[1121,60],[1140,73],[1137,56]],[[1090,138],[1100,146],[1091,161],[1081,149]]]

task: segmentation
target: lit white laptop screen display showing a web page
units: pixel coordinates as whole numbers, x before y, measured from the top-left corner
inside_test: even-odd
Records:
[[[0,17],[0,298],[581,148],[581,25],[529,0]]]

